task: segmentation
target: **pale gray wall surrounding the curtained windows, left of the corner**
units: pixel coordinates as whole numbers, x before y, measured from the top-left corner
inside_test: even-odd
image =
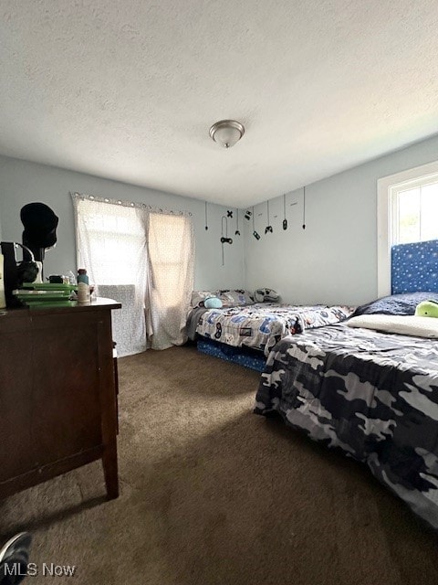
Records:
[[[196,238],[195,288],[239,288],[245,284],[243,236],[234,238],[221,255],[221,218],[226,207],[209,204],[209,229],[204,229],[204,203],[139,186],[117,183],[97,176],[83,175],[47,165],[36,165],[0,156],[0,221],[2,238],[21,242],[23,225],[21,207],[42,201],[52,207],[59,218],[57,246],[47,251],[45,275],[76,270],[76,244],[73,205],[69,192],[89,193],[120,198],[193,214]],[[235,232],[235,225],[229,232]]]

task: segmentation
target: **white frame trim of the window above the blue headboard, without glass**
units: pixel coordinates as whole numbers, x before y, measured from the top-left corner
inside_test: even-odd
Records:
[[[391,294],[391,241],[395,193],[404,187],[425,186],[438,180],[438,161],[383,176],[377,181],[377,293]]]

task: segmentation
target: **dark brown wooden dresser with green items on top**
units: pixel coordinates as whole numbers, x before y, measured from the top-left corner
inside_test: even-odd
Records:
[[[102,459],[119,495],[111,310],[0,310],[0,497]]]

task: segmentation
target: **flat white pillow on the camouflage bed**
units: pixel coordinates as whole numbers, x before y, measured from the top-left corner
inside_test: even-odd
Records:
[[[438,319],[415,315],[361,314],[346,322],[349,327],[365,327],[376,331],[415,335],[416,337],[438,337]]]

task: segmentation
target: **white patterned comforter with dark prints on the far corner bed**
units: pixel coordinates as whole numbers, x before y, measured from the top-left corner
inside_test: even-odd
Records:
[[[201,316],[196,332],[228,346],[261,349],[265,355],[286,335],[339,323],[353,307],[255,303],[228,309],[209,309]]]

